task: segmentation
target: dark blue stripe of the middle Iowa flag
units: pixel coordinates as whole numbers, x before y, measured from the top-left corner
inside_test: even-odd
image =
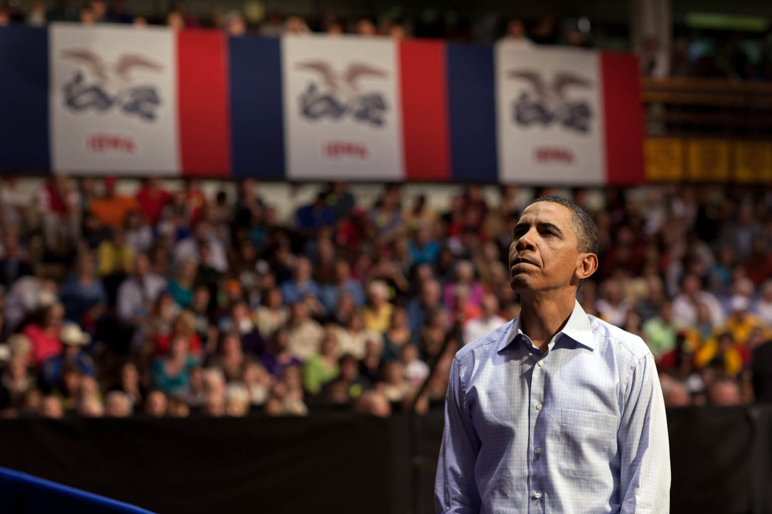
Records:
[[[230,38],[229,62],[233,175],[283,178],[281,43]]]

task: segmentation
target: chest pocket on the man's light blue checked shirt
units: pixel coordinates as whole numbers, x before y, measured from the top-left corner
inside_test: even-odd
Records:
[[[560,471],[580,479],[608,473],[609,462],[616,452],[618,425],[615,415],[562,409]]]

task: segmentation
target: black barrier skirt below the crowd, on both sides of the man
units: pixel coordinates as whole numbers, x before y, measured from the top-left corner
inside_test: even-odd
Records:
[[[671,512],[772,514],[772,407],[668,411]],[[442,412],[0,420],[0,465],[156,512],[422,514]],[[411,440],[415,442],[411,445]],[[411,455],[417,452],[418,455]],[[411,466],[413,466],[411,468]],[[411,470],[420,480],[411,482]]]

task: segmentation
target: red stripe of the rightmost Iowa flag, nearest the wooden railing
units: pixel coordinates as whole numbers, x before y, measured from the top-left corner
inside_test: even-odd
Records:
[[[610,184],[645,182],[643,103],[634,55],[601,52],[606,124],[606,176]]]

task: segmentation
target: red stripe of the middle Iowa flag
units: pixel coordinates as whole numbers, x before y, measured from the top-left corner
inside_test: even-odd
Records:
[[[445,44],[402,41],[399,60],[405,179],[449,180]]]

